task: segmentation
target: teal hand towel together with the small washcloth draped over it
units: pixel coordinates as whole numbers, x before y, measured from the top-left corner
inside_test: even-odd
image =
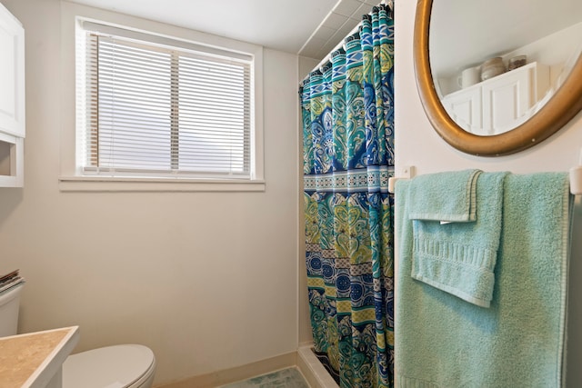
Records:
[[[413,278],[489,307],[506,174],[467,170],[410,181]]]

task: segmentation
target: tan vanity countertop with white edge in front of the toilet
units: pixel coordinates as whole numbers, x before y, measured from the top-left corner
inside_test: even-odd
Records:
[[[60,386],[61,366],[79,340],[79,327],[0,338],[0,388]]]

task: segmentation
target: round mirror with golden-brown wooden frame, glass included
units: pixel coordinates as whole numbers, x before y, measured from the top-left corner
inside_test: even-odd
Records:
[[[448,144],[468,154],[513,154],[582,109],[582,2],[555,3],[418,0],[416,83]]]

